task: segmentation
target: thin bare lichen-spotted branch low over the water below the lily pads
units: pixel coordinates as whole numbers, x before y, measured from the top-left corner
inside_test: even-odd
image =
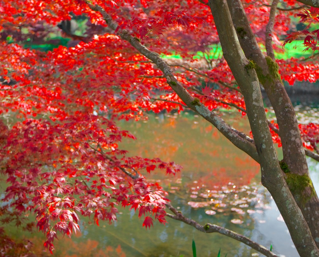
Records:
[[[244,235],[238,234],[234,231],[226,229],[225,227],[221,227],[221,226],[218,226],[215,224],[207,223],[203,226],[203,225],[197,223],[195,220],[186,218],[182,214],[182,212],[175,209],[171,204],[166,204],[166,206],[168,209],[170,209],[174,213],[174,215],[172,215],[170,213],[166,213],[167,217],[170,217],[174,220],[182,221],[182,222],[184,222],[188,225],[191,225],[194,228],[196,228],[197,230],[204,232],[204,233],[219,233],[219,234],[225,235],[227,237],[230,237],[232,239],[235,239],[237,241],[244,243],[245,245],[255,249],[256,251],[264,254],[267,257],[278,257],[278,255],[276,255],[275,253],[268,250],[265,246],[262,246],[256,242],[250,240],[248,237],[245,237]]]

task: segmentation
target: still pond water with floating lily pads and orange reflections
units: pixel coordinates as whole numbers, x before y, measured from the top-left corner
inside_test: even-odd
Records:
[[[316,106],[296,106],[301,122],[318,122]],[[249,133],[248,119],[240,114],[222,113],[232,125]],[[268,115],[272,116],[271,109]],[[307,118],[306,118],[307,117]],[[212,223],[244,234],[281,256],[299,256],[285,223],[271,195],[260,184],[260,168],[254,160],[234,147],[201,117],[182,115],[151,115],[147,121],[121,122],[136,141],[127,140],[120,147],[132,155],[159,157],[183,166],[182,172],[166,176],[153,172],[169,192],[172,205],[200,224]],[[278,149],[279,159],[282,158]],[[319,192],[319,164],[308,159],[315,188]],[[85,220],[81,235],[72,239],[60,237],[53,256],[192,256],[192,240],[197,256],[263,256],[248,246],[220,234],[204,234],[182,222],[154,223],[145,230],[143,220],[133,211],[121,210],[113,225],[100,227]],[[15,237],[30,238],[34,251],[43,254],[43,239],[15,228],[7,228]],[[52,255],[51,255],[52,256]]]

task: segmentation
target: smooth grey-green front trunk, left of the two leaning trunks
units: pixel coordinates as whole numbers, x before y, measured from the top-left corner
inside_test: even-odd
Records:
[[[242,53],[227,3],[223,0],[211,0],[209,6],[224,57],[245,98],[247,116],[259,156],[262,183],[276,202],[300,256],[319,256],[308,224],[294,201],[278,163],[263,108],[258,77],[254,70],[255,63],[247,60]]]

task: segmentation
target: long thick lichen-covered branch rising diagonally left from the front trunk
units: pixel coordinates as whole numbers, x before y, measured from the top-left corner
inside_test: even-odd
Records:
[[[105,22],[108,24],[110,28],[116,31],[118,25],[113,21],[112,17],[106,13],[106,11],[98,5],[91,6],[93,11],[99,11],[103,16]],[[234,128],[228,125],[221,117],[217,114],[208,110],[206,106],[204,106],[198,99],[194,99],[189,95],[186,89],[182,86],[182,84],[174,77],[170,66],[164,61],[163,58],[160,57],[158,53],[152,52],[144,45],[140,43],[140,41],[132,36],[127,30],[123,29],[118,32],[122,39],[127,40],[134,48],[137,49],[142,55],[150,59],[154,62],[159,69],[163,72],[164,76],[167,79],[167,83],[170,87],[176,92],[176,94],[182,99],[182,101],[189,106],[190,109],[197,112],[201,115],[205,120],[209,121],[212,125],[214,125],[230,142],[232,142],[236,147],[246,152],[251,158],[259,162],[259,157],[257,154],[255,144],[251,143],[249,140],[239,136],[235,133]]]

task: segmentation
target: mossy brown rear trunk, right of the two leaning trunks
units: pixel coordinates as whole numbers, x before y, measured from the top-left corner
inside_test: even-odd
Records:
[[[317,218],[319,199],[309,176],[305,151],[293,105],[281,81],[278,65],[270,56],[265,57],[261,52],[241,2],[238,0],[227,1],[241,48],[248,59],[256,62],[255,70],[257,76],[277,117],[279,136],[284,154],[281,164],[282,167],[285,167],[284,172],[287,173],[285,176],[286,182],[319,247],[319,220]],[[274,9],[276,9],[276,6]],[[274,17],[270,17],[270,20],[271,18],[274,19]],[[267,47],[267,53],[270,54],[271,52],[272,46],[270,44]],[[299,187],[295,186],[296,181]]]

